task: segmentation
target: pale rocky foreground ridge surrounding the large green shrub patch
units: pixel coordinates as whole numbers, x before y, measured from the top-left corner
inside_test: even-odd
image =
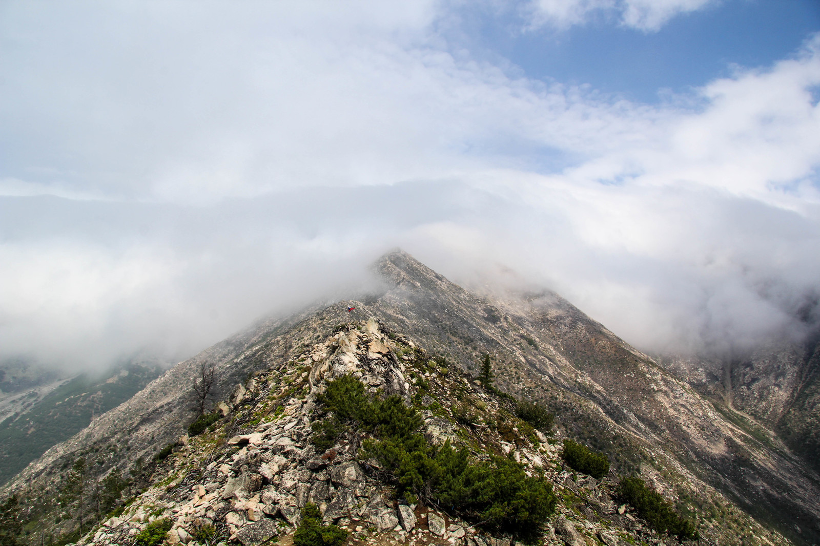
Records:
[[[239,385],[228,403],[218,404],[224,418],[214,430],[181,438],[157,466],[153,485],[77,544],[134,544],[140,530],[166,518],[173,524],[167,544],[202,544],[199,536],[208,544],[287,546],[300,508],[314,503],[326,523],[350,532],[353,544],[510,546],[509,537],[486,535],[457,514],[396,500],[379,479],[378,463],[358,460],[358,435],[343,435],[317,452],[310,441],[316,395],[326,380],[348,374],[372,393],[416,403],[430,442],[466,444],[479,458],[504,454],[526,465],[528,474],[548,475],[559,503],[544,544],[677,544],[617,507],[612,481],[565,470],[555,439],[512,416],[508,399],[436,366],[410,339],[385,335],[373,319]],[[421,396],[419,384],[425,385]],[[469,419],[465,407],[476,410]],[[211,530],[207,540],[203,529]]]

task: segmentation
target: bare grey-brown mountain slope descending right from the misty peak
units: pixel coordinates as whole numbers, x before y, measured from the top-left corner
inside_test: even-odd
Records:
[[[713,485],[795,541],[820,542],[818,476],[799,457],[724,417],[563,298],[477,298],[401,253],[380,271],[397,286],[379,304],[399,330],[466,370],[485,351],[499,355],[503,388],[549,403],[573,434],[612,446],[625,470],[675,469],[686,476],[676,479]]]

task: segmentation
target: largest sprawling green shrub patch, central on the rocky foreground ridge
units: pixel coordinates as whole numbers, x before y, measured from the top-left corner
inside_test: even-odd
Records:
[[[362,443],[361,456],[380,463],[400,496],[452,507],[476,525],[527,543],[540,536],[555,508],[552,485],[541,475],[526,475],[520,463],[493,456],[472,461],[467,448],[455,449],[449,441],[440,448],[428,443],[421,434],[421,415],[398,396],[376,398],[361,381],[345,375],[328,382],[317,403],[330,414],[324,421],[334,423],[320,425],[317,433],[325,441],[339,430],[371,435]]]

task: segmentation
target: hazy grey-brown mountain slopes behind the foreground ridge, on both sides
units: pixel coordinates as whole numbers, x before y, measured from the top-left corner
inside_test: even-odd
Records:
[[[383,257],[376,270],[389,288],[354,302],[355,312],[348,314],[341,303],[265,321],[181,362],[49,450],[5,491],[39,507],[30,512],[31,521],[51,521],[55,510],[48,499],[66,498],[59,476],[80,457],[90,479],[130,474],[136,482],[155,484],[159,478],[152,480],[154,468],[148,461],[175,443],[194,420],[191,382],[201,362],[216,366],[216,398],[226,399],[235,385],[259,371],[282,371],[283,366],[291,380],[298,380],[294,366],[304,366],[299,373],[307,374],[308,383],[297,381],[295,386],[307,395],[318,370],[336,362],[334,355],[344,344],[336,338],[339,347],[334,348],[326,340],[348,324],[373,318],[385,332],[446,357],[449,366],[468,375],[490,353],[500,389],[548,405],[557,414],[558,436],[581,439],[608,453],[615,470],[639,471],[699,518],[704,537],[720,544],[785,544],[786,539],[772,533],[776,528],[795,544],[820,543],[818,478],[799,457],[776,438],[737,425],[686,381],[562,298],[552,293],[481,298],[400,252]],[[390,354],[407,356],[403,351],[396,346]],[[349,359],[348,364],[354,366]],[[242,425],[236,421],[225,431],[232,435]],[[142,487],[138,485],[126,494],[135,493]],[[64,510],[57,529],[75,526],[68,512],[82,512],[82,507],[71,502],[66,500],[71,510]],[[41,529],[39,525],[32,523],[30,530]]]

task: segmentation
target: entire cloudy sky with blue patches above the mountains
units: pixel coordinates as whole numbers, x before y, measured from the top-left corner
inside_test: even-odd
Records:
[[[647,350],[799,335],[818,32],[804,0],[2,2],[0,358],[189,356],[396,246]]]

